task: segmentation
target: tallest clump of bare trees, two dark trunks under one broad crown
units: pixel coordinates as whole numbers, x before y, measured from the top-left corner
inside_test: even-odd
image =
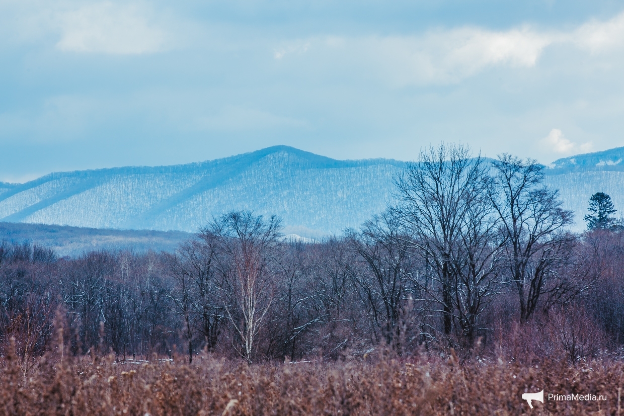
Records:
[[[412,253],[424,266],[422,292],[442,313],[444,334],[457,326],[471,343],[500,289],[504,238],[489,199],[489,164],[467,147],[441,145],[422,152],[396,184],[391,212],[411,231]]]

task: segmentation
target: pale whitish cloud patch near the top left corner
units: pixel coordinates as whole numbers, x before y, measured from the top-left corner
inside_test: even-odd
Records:
[[[150,24],[147,11],[137,5],[112,2],[88,4],[61,12],[58,49],[66,52],[149,54],[165,48],[165,32]]]

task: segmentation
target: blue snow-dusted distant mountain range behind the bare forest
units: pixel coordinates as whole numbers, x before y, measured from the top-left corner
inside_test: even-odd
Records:
[[[383,211],[403,166],[275,146],[187,165],[51,173],[0,183],[0,221],[195,232],[212,216],[253,210],[281,216],[286,234],[318,238]],[[597,191],[624,210],[624,147],[562,158],[545,172],[547,185],[558,188],[565,207],[577,214],[577,230]]]

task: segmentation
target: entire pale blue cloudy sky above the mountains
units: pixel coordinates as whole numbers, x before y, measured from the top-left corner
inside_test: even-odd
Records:
[[[0,0],[0,181],[624,146],[622,1]]]

